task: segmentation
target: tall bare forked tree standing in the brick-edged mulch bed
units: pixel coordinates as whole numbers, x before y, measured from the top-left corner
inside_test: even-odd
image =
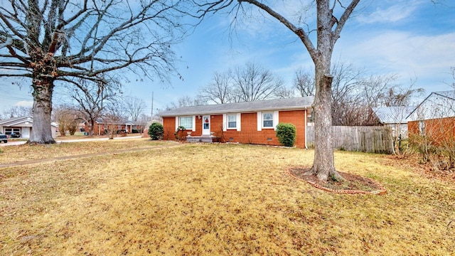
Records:
[[[334,166],[332,134],[331,134],[331,85],[333,75],[331,75],[331,58],[333,46],[340,37],[341,31],[348,21],[350,14],[354,11],[360,0],[348,1],[342,4],[341,1],[318,0],[316,1],[316,27],[305,31],[299,26],[304,24],[309,27],[312,24],[309,16],[299,15],[297,23],[292,23],[277,11],[280,6],[271,7],[257,0],[238,0],[239,8],[242,9],[243,3],[256,6],[260,10],[277,19],[280,23],[292,31],[304,44],[308,50],[315,66],[316,93],[314,97],[314,117],[315,117],[315,154],[314,164],[309,174],[316,175],[321,180],[327,180],[328,177],[333,179],[342,179]],[[233,1],[213,1],[210,4],[201,4],[201,6],[220,9]],[[206,3],[205,1],[203,3]],[[281,3],[281,2],[280,2]],[[275,4],[278,4],[275,3]],[[283,2],[284,4],[284,2]],[[339,14],[338,17],[335,15]],[[310,33],[316,32],[316,45],[311,41]]]

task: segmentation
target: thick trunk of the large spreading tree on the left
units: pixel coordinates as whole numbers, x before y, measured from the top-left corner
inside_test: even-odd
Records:
[[[33,126],[28,144],[53,144],[50,113],[53,80],[33,80]]]

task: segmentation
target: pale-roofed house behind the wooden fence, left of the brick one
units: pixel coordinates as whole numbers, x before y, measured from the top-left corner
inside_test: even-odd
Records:
[[[373,107],[372,110],[380,123],[392,128],[392,137],[407,139],[407,117],[415,110],[413,107]]]

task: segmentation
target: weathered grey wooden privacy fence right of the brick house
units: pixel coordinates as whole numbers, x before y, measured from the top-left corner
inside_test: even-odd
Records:
[[[314,127],[306,127],[306,144],[314,147]],[[369,153],[393,152],[390,127],[332,127],[333,148]]]

